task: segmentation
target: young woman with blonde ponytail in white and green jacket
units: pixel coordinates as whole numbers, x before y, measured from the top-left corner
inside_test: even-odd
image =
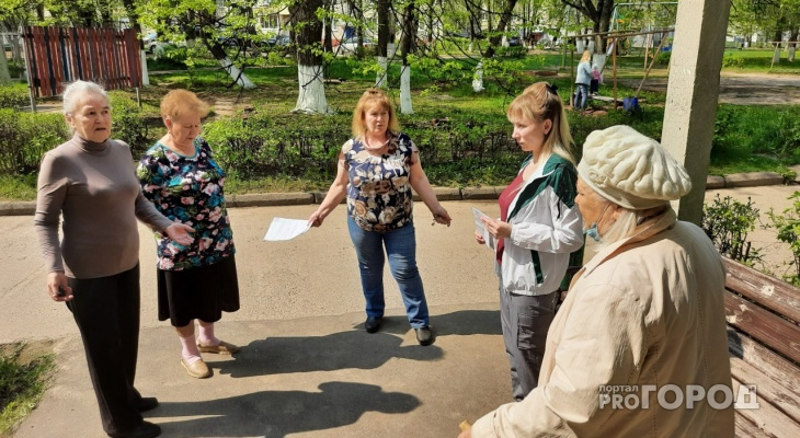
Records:
[[[500,220],[484,218],[484,223],[498,241],[503,339],[513,396],[521,401],[536,388],[559,287],[571,253],[583,247],[583,223],[574,204],[572,137],[556,88],[528,87],[506,114],[512,137],[530,154],[500,195]],[[479,233],[476,240],[483,243]]]

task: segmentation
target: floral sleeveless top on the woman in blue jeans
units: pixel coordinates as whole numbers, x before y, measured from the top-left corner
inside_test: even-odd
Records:
[[[409,173],[416,146],[392,134],[389,148],[374,155],[357,139],[342,147],[347,166],[347,214],[363,230],[386,232],[411,223],[413,199]]]

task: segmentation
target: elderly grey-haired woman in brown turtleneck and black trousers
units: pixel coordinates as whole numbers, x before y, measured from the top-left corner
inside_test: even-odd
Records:
[[[129,147],[111,139],[111,105],[93,82],[64,91],[75,136],[42,159],[34,219],[47,291],[65,301],[83,339],[103,429],[110,437],[156,437],[140,412],[158,405],[134,388],[139,343],[139,234],[136,220],[190,244],[141,195]],[[62,239],[58,240],[59,217]]]

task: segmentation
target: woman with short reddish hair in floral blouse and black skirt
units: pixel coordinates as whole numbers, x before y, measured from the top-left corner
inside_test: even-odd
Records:
[[[158,313],[170,320],[183,347],[181,365],[190,376],[212,376],[201,353],[230,355],[239,347],[214,335],[222,311],[239,310],[233,235],[225,207],[225,172],[198,137],[208,105],[194,93],[173,90],[161,101],[167,134],[141,158],[137,175],[145,197],[164,216],[194,228],[184,246],[156,233]],[[194,320],[199,323],[195,341]]]

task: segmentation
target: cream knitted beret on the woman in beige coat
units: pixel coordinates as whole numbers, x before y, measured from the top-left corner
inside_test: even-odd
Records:
[[[658,141],[624,125],[586,137],[578,174],[604,198],[633,210],[664,205],[692,189],[686,169]]]

